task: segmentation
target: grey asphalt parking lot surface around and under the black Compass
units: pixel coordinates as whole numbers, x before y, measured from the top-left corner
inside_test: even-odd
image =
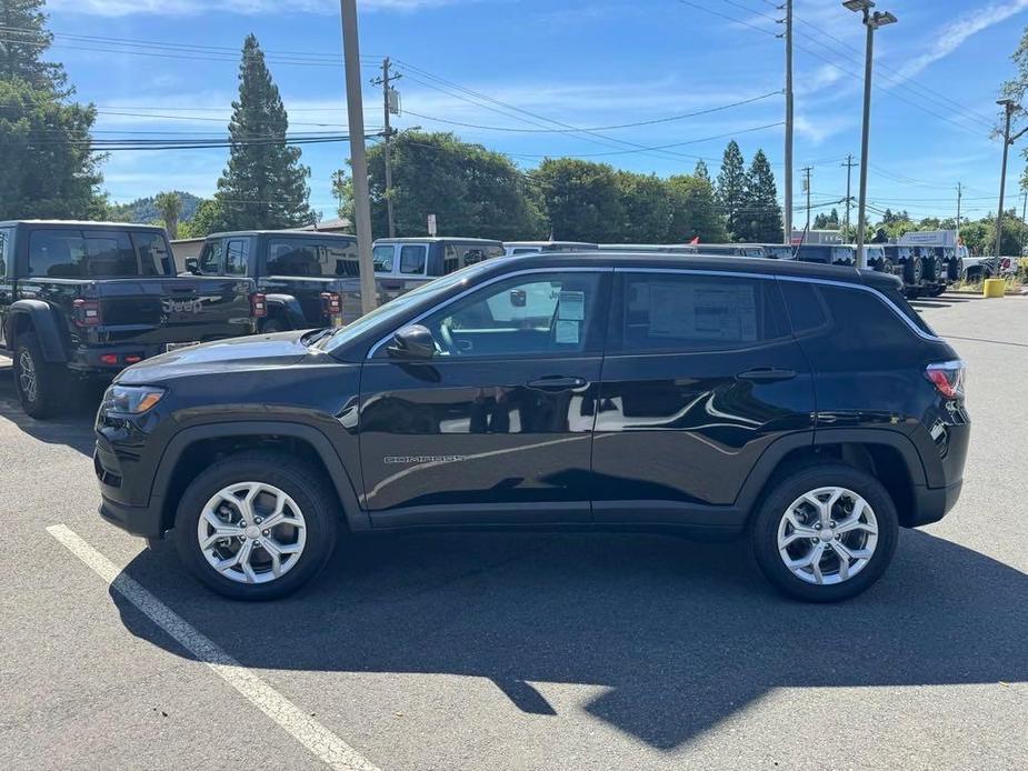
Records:
[[[831,607],[742,543],[543,533],[232,603],[98,519],[88,405],[26,418],[0,360],[0,768],[1024,768],[1028,298],[916,304],[969,364],[964,495]]]

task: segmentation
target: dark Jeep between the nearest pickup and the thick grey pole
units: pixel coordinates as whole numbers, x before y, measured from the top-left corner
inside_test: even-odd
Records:
[[[252,279],[268,303],[260,332],[339,327],[361,314],[357,238],[250,230],[211,233],[186,276]],[[380,299],[381,300],[381,299]]]

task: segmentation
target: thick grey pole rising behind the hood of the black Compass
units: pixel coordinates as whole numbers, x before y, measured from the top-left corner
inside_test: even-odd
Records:
[[[371,262],[371,199],[368,191],[368,156],[365,149],[365,108],[360,93],[360,43],[357,36],[357,0],[339,0],[342,17],[342,59],[346,66],[347,122],[350,134],[350,166],[353,168],[353,224],[360,267],[360,309],[370,313],[378,306],[375,264]]]

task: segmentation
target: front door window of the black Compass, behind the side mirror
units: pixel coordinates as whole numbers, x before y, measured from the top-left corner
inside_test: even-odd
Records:
[[[445,357],[580,353],[598,290],[598,273],[520,276],[457,300],[422,323]]]

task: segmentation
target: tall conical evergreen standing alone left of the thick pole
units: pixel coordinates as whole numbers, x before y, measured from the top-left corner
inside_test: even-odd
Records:
[[[239,100],[229,122],[231,154],[216,200],[229,230],[296,228],[313,221],[310,169],[286,143],[289,119],[257,38],[247,37],[239,64]]]

